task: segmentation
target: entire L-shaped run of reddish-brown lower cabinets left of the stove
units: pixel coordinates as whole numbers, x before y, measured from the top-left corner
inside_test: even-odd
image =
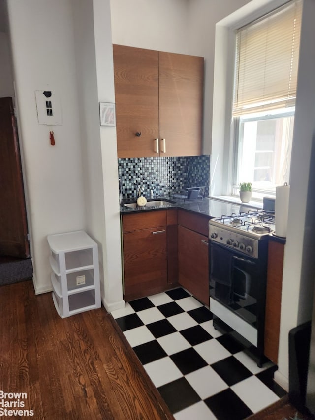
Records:
[[[123,214],[124,299],[182,285],[209,306],[208,222],[177,209]]]

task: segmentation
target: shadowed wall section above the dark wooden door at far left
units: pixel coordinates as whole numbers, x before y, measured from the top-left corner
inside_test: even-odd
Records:
[[[0,97],[14,97],[9,37],[4,32],[0,32],[0,57]]]

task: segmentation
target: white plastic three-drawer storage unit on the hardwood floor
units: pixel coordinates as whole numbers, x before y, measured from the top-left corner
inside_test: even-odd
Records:
[[[53,300],[61,318],[100,308],[97,243],[84,231],[48,235],[47,240]]]

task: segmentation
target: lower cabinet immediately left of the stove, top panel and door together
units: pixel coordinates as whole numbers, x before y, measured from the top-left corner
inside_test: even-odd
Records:
[[[178,282],[209,306],[209,218],[178,212]],[[197,231],[196,231],[197,230]]]

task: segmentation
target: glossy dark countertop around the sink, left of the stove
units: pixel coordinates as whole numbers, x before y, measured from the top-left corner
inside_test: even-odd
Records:
[[[166,197],[165,197],[166,199]],[[256,208],[252,208],[249,206],[244,206],[240,204],[228,203],[226,201],[217,200],[213,198],[203,198],[203,199],[195,199],[195,200],[188,200],[188,199],[180,199],[180,198],[173,198],[167,197],[167,199],[172,200],[174,203],[168,203],[165,206],[158,206],[158,207],[146,207],[137,206],[136,208],[128,208],[124,207],[123,205],[120,206],[121,214],[130,214],[136,213],[141,211],[152,211],[152,210],[166,210],[171,208],[178,208],[191,211],[197,214],[203,214],[207,217],[221,217],[222,214],[239,214],[241,211],[248,211],[248,210],[257,210]]]

